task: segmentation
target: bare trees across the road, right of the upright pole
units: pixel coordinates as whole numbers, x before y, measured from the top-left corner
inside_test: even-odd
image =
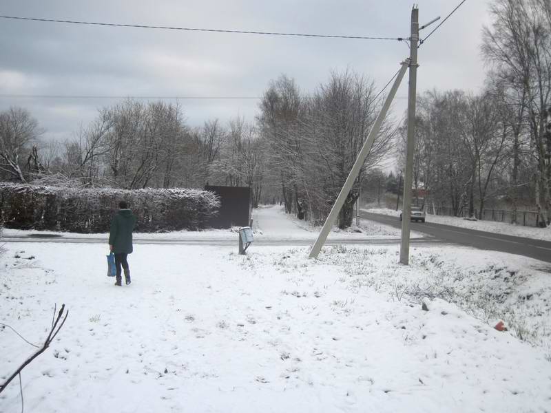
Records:
[[[414,188],[429,207],[481,218],[486,203],[551,219],[551,3],[494,0],[484,90],[418,98]],[[403,149],[405,133],[399,141]],[[399,165],[404,165],[403,150]]]

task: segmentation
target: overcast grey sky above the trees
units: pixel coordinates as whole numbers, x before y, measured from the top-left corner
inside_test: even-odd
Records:
[[[460,0],[418,0],[419,23],[442,18]],[[17,17],[191,28],[407,37],[413,3],[404,0],[18,0]],[[417,91],[484,83],[481,29],[488,1],[467,0],[419,49]],[[422,32],[426,36],[435,25]],[[331,70],[350,68],[383,87],[409,54],[404,42],[116,28],[0,19],[0,94],[86,96],[260,96],[280,74],[304,92]],[[394,114],[406,107],[407,81]],[[5,98],[64,140],[107,98]],[[190,125],[233,116],[253,120],[258,100],[180,100]]]

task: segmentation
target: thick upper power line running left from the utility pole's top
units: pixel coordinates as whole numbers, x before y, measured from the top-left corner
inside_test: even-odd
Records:
[[[302,37],[326,37],[333,39],[361,39],[361,40],[393,40],[402,41],[402,37],[376,37],[376,36],[344,36],[338,34],[306,34],[306,33],[280,33],[280,32],[253,32],[250,30],[222,30],[222,29],[199,29],[199,28],[180,28],[173,26],[144,25],[144,24],[121,24],[121,23],[98,23],[95,21],[75,21],[58,19],[38,19],[36,17],[17,17],[2,16],[2,19],[25,20],[25,21],[43,21],[48,23],[70,23],[81,25],[101,25],[119,28],[141,28],[141,29],[160,29],[160,30],[188,30],[191,32],[216,32],[216,33],[238,33],[238,34],[265,34],[269,36],[302,36]]]

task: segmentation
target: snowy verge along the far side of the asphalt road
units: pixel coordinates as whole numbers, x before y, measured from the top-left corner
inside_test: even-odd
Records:
[[[380,213],[382,215],[391,215],[399,217],[400,212],[394,209],[362,209],[362,211]],[[487,231],[491,233],[499,233],[512,235],[514,237],[526,237],[534,240],[551,241],[551,227],[535,228],[532,226],[511,225],[507,222],[494,221],[471,221],[464,218],[447,217],[443,215],[426,214],[426,222],[435,222],[436,224],[444,224],[451,226],[459,226],[461,228],[476,229],[478,231]]]

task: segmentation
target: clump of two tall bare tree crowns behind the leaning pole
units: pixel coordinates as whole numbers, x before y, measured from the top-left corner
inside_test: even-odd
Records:
[[[373,82],[353,72],[334,73],[306,95],[282,76],[264,93],[260,109],[260,130],[269,142],[272,178],[281,189],[285,210],[321,222],[380,112]],[[391,122],[382,126],[340,211],[340,228],[352,224],[353,205],[367,166],[376,167],[391,153],[395,132]]]

